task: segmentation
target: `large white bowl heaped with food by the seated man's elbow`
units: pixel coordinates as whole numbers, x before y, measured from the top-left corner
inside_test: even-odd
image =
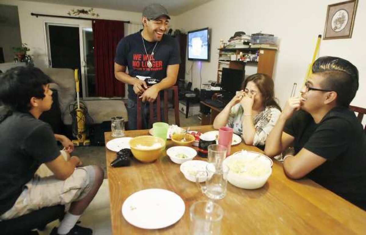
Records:
[[[259,189],[272,174],[272,160],[264,154],[241,151],[224,160],[228,182],[242,189]]]

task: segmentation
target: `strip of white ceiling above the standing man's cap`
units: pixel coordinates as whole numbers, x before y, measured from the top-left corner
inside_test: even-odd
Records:
[[[22,0],[38,1],[62,5],[75,5],[82,7],[105,8],[121,11],[142,12],[142,9],[150,3],[160,3],[167,8],[170,15],[179,15],[211,0]],[[98,13],[98,12],[96,12]]]

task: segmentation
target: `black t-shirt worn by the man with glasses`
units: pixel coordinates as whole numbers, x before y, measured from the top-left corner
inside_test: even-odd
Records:
[[[366,135],[352,111],[335,107],[316,124],[300,110],[284,132],[295,137],[295,154],[305,148],[326,159],[310,179],[366,210]]]

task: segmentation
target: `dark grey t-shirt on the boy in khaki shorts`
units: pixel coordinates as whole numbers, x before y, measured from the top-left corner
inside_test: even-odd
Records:
[[[38,167],[56,159],[59,147],[49,124],[14,112],[0,123],[0,215],[12,208]]]

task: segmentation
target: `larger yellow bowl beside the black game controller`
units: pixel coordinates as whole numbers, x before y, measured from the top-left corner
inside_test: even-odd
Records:
[[[155,136],[142,135],[130,140],[131,152],[143,163],[151,163],[161,156],[165,141]]]

